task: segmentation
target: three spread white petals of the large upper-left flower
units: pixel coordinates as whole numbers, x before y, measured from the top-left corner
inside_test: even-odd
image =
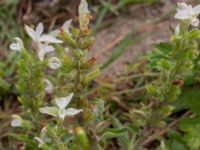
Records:
[[[25,25],[27,34],[35,41],[37,44],[41,42],[45,43],[62,43],[61,40],[56,39],[53,36],[42,34],[44,31],[44,26],[42,23],[39,23],[34,31],[31,27]]]

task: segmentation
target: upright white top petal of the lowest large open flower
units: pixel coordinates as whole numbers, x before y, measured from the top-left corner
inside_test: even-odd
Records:
[[[61,98],[56,98],[55,102],[56,105],[60,108],[63,109],[65,107],[67,107],[67,105],[70,103],[70,101],[72,100],[72,97],[74,96],[74,93],[70,93],[69,96],[66,97],[61,97]]]

